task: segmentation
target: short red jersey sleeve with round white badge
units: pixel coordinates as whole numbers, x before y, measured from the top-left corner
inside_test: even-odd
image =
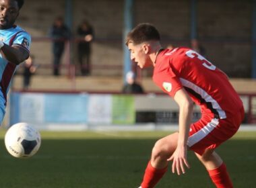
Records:
[[[174,97],[175,93],[183,88],[179,77],[173,73],[171,68],[160,73],[155,73],[153,80],[170,97]]]

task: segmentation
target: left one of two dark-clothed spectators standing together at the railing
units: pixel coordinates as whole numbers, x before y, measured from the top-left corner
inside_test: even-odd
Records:
[[[63,21],[63,17],[57,17],[50,29],[50,36],[53,38],[53,75],[59,75],[61,56],[65,50],[65,42],[70,37],[70,31]]]

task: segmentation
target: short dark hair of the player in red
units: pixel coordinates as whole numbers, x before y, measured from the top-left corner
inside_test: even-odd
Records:
[[[131,42],[137,45],[150,40],[160,40],[158,30],[150,23],[139,23],[139,25],[127,34],[125,44],[128,45]]]

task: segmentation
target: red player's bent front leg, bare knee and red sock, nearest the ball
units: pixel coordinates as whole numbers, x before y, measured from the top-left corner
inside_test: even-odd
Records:
[[[142,188],[151,188],[160,181],[167,171],[168,161],[177,148],[178,133],[170,134],[156,142],[152,150],[152,156],[141,183]]]

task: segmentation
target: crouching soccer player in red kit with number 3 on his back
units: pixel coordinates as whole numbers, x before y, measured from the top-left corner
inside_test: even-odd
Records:
[[[179,105],[179,132],[156,142],[141,188],[154,187],[172,161],[172,173],[189,168],[187,150],[195,152],[218,188],[231,188],[226,166],[215,149],[232,137],[244,118],[243,103],[214,64],[189,48],[163,49],[160,34],[141,23],[127,35],[131,60],[140,68],[154,66],[153,80]],[[201,119],[191,124],[193,103]]]

